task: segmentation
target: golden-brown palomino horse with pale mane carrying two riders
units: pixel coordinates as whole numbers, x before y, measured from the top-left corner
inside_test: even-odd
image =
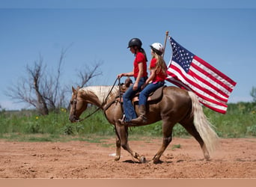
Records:
[[[133,151],[128,144],[128,126],[123,126],[118,121],[123,115],[121,103],[117,99],[118,86],[92,86],[73,89],[70,99],[70,121],[79,121],[79,116],[87,108],[88,103],[97,105],[106,115],[109,123],[115,126],[116,133],[116,156],[118,161],[121,157],[121,147],[127,150],[133,158],[139,162],[146,162],[144,156]],[[138,106],[135,106],[138,112]],[[210,152],[215,148],[218,136],[212,125],[204,115],[201,104],[195,93],[176,87],[165,87],[162,99],[147,105],[147,124],[162,120],[162,146],[153,156],[153,163],[160,161],[160,156],[171,142],[172,129],[176,123],[180,123],[200,144],[205,159],[210,159]],[[146,124],[146,125],[147,125]],[[142,124],[138,124],[141,126]],[[145,124],[143,124],[145,125]]]

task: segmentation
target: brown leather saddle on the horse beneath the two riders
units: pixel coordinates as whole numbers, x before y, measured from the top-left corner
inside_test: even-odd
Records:
[[[127,91],[127,89],[129,88],[130,84],[132,84],[132,80],[131,79],[127,79],[125,81],[124,85],[121,85],[121,94],[123,95],[125,93],[125,91]],[[155,104],[156,102],[159,102],[159,100],[162,99],[162,95],[163,95],[163,88],[165,88],[166,86],[162,86],[160,88],[157,88],[156,91],[153,91],[152,93],[150,93],[150,95],[147,97],[147,103],[148,104]],[[136,93],[135,96],[132,98],[132,104],[133,105],[138,105],[138,96],[139,93]],[[118,98],[119,100],[119,98]],[[123,97],[121,99],[121,102],[123,102]]]

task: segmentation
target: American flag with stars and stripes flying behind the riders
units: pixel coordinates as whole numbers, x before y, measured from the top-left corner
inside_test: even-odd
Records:
[[[203,59],[192,54],[169,37],[172,58],[166,80],[188,91],[193,91],[208,108],[225,114],[228,97],[237,84]]]

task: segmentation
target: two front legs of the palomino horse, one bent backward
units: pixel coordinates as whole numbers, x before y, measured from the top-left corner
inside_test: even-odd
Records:
[[[120,151],[120,149],[118,148],[118,145],[120,144],[121,147],[123,147],[124,150],[127,150],[134,159],[138,160],[138,162],[142,162],[142,163],[146,162],[146,159],[144,158],[144,156],[139,156],[138,153],[136,153],[129,147],[127,126],[117,125],[116,133],[119,139],[119,141],[117,141],[117,156],[118,156],[118,151]],[[116,156],[116,159],[117,159],[117,156]]]

